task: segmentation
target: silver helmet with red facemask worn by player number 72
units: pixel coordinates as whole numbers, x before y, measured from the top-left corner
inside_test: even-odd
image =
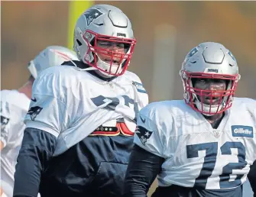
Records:
[[[183,81],[184,100],[194,110],[203,115],[222,113],[232,106],[232,99],[240,79],[238,64],[232,53],[222,44],[206,42],[190,50],[182,63],[180,76]],[[228,86],[225,91],[202,90],[193,87],[192,79],[225,79]],[[201,102],[203,95],[220,97],[218,105],[206,105]],[[199,99],[201,98],[201,99]]]

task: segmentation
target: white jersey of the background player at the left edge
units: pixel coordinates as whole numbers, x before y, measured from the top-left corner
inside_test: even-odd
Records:
[[[14,184],[15,165],[25,128],[30,99],[17,90],[1,91],[1,179]]]

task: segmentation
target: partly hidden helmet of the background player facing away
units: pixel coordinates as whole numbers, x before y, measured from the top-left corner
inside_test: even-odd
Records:
[[[76,53],[66,47],[50,46],[42,50],[34,60],[28,63],[28,69],[34,79],[38,74],[51,66],[60,66],[65,61],[78,60]]]

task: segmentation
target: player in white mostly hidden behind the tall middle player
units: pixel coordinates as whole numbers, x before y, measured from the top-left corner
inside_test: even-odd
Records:
[[[50,46],[28,64],[31,73],[28,82],[18,90],[1,91],[1,195],[12,196],[15,164],[24,132],[24,116],[31,100],[34,79],[43,69],[64,61],[78,60],[76,53],[65,47]],[[33,101],[33,100],[32,100]],[[3,194],[4,193],[4,194]]]

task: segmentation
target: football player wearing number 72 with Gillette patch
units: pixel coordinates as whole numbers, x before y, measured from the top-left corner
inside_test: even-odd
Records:
[[[256,102],[234,97],[235,57],[222,44],[199,44],[180,76],[184,100],[154,102],[138,115],[125,196],[146,196],[158,175],[154,197],[241,197],[256,159]]]

